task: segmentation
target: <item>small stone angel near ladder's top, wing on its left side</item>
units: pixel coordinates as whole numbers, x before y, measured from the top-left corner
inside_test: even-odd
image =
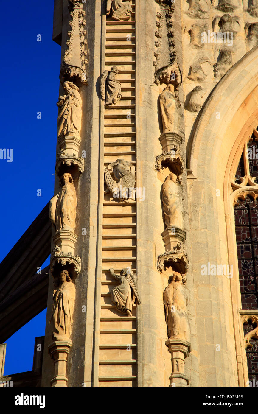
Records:
[[[105,105],[115,105],[122,97],[121,83],[116,79],[118,72],[118,68],[113,66],[111,71],[105,70],[101,76],[100,91]]]

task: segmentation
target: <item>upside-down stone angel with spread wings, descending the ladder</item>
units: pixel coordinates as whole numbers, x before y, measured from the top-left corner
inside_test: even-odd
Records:
[[[113,171],[115,180],[111,176]],[[135,200],[135,167],[124,159],[117,159],[111,162],[104,170],[107,185],[106,194],[113,194],[113,197],[121,201],[130,202]]]

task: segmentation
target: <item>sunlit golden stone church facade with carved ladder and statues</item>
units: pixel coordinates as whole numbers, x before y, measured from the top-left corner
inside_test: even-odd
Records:
[[[258,379],[246,359],[257,330],[243,330],[258,309],[242,308],[233,210],[258,197],[248,157],[236,181],[258,139],[258,9],[247,3],[55,0],[41,387]]]

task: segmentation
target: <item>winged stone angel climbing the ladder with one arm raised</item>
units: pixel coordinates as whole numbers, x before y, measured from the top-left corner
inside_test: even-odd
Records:
[[[122,269],[120,275],[116,274],[113,268],[109,269],[109,272],[120,282],[120,285],[111,291],[111,303],[121,312],[127,313],[127,316],[132,316],[135,301],[138,305],[141,303],[136,287],[136,273],[133,273],[130,267]]]

